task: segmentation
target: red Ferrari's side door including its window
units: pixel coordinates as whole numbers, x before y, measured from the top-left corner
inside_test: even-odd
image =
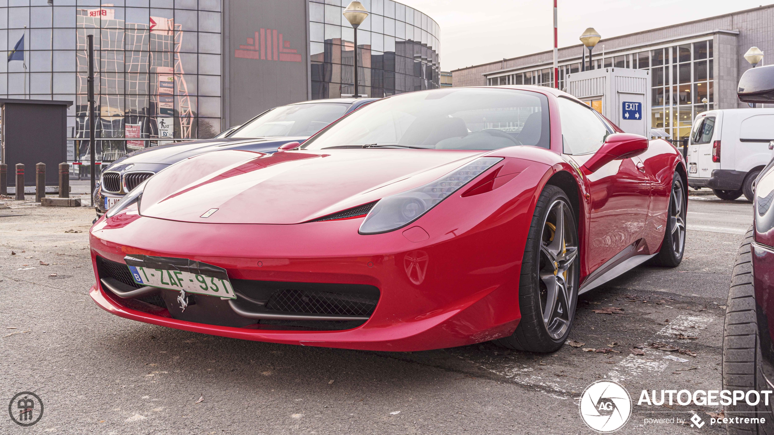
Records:
[[[564,154],[583,165],[613,131],[588,107],[567,98],[558,100]],[[591,197],[585,258],[591,273],[605,263],[628,257],[626,253],[642,238],[650,182],[637,157],[611,161],[587,175],[586,181]]]

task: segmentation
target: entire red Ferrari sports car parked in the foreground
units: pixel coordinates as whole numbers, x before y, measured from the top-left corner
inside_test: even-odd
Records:
[[[548,87],[403,93],[283,148],[132,190],[91,228],[94,301],[263,342],[552,352],[578,294],[683,257],[676,148]]]

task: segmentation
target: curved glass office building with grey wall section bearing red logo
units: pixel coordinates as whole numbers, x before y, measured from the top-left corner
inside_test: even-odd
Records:
[[[348,0],[0,0],[0,97],[67,100],[68,159],[87,157],[87,36],[94,36],[98,161],[211,138],[271,107],[354,93]],[[108,3],[110,2],[110,3]],[[359,93],[439,85],[437,22],[363,0]],[[23,38],[23,41],[22,41]],[[231,39],[229,39],[231,38]],[[127,139],[159,141],[131,141]]]

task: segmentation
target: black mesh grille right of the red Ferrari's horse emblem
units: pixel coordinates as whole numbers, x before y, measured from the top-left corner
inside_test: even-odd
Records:
[[[378,297],[368,294],[342,294],[327,291],[280,290],[274,292],[266,308],[305,314],[370,316]]]

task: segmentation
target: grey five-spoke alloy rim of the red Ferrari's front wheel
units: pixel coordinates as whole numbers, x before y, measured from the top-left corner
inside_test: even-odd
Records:
[[[576,286],[577,234],[570,207],[554,201],[543,223],[540,240],[539,284],[543,324],[554,340],[562,338],[570,326]]]

